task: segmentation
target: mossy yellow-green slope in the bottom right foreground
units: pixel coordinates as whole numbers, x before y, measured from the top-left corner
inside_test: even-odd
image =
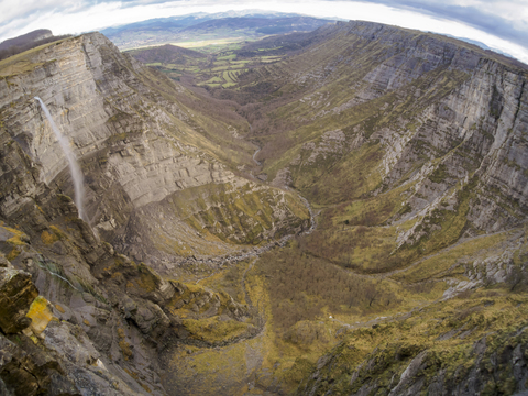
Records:
[[[408,319],[355,330],[323,358],[317,375],[305,377],[297,394],[350,394],[364,387],[388,393],[413,361],[422,364],[409,372],[407,386],[422,381],[419,389],[425,392],[440,380],[454,389],[475,369],[487,375],[501,353],[526,348],[525,297],[514,300],[503,292],[481,289],[471,298],[438,302]],[[476,350],[477,344],[485,345],[484,352]],[[514,366],[506,360],[501,364],[501,378],[485,388],[512,393]]]

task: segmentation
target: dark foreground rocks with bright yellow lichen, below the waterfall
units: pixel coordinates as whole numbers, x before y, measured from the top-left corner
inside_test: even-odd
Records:
[[[70,206],[75,210],[68,198],[57,209],[67,213]],[[141,370],[143,380],[133,374],[138,371],[136,362],[131,359],[134,343],[138,342],[136,356],[153,352],[136,341],[142,339],[141,330],[134,326],[130,329],[127,319],[119,315],[123,296],[111,299],[110,304],[107,285],[94,276],[98,275],[97,263],[114,257],[114,252],[108,244],[98,244],[94,234],[88,238],[91,231],[85,227],[64,233],[58,227],[47,229],[50,234],[44,241],[55,245],[45,250],[47,257],[28,243],[31,239],[26,234],[2,228],[11,230],[10,234],[15,235],[11,240],[16,238],[18,241],[16,254],[8,255],[11,263],[2,256],[4,267],[0,268],[0,330],[6,334],[0,333],[2,395],[164,394],[152,369]],[[87,234],[86,240],[81,232]],[[154,287],[135,297],[139,305],[153,312],[161,309],[146,298],[158,299],[166,295],[166,283],[158,282],[158,289]],[[168,322],[153,322],[145,334],[154,340],[168,327]],[[130,367],[120,363],[127,359],[131,359]],[[144,387],[146,384],[148,392]]]

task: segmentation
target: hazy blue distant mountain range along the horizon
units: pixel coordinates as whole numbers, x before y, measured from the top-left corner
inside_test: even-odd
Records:
[[[196,13],[160,18],[101,31],[120,50],[226,38],[255,40],[270,34],[311,32],[333,20],[262,11]]]

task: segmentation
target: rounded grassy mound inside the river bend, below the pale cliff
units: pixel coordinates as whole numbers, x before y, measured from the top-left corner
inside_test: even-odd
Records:
[[[170,223],[161,221],[150,237],[157,250],[179,256],[226,254],[233,244],[267,244],[309,221],[297,196],[251,183],[186,188],[157,208]]]

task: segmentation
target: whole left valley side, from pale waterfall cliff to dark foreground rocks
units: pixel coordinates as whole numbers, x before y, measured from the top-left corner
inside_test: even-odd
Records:
[[[21,304],[2,316],[12,321],[0,332],[2,394],[162,395],[162,351],[254,337],[246,305],[176,280],[187,256],[309,226],[296,195],[234,174],[252,163],[254,146],[232,135],[246,122],[98,33],[8,58],[0,75],[1,298]],[[86,221],[34,97],[80,163]],[[11,282],[16,271],[25,284]]]

